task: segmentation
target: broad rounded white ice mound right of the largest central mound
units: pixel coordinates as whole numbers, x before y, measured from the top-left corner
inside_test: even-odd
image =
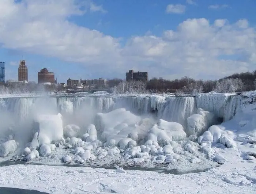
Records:
[[[167,122],[159,119],[148,132],[148,140],[158,141],[161,145],[166,145],[170,141],[184,140],[186,133],[183,130],[183,126],[176,122]]]

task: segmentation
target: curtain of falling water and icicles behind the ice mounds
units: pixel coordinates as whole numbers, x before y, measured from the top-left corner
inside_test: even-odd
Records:
[[[148,115],[165,121],[180,123],[187,128],[187,118],[198,108],[230,120],[239,111],[245,111],[253,98],[227,94],[199,94],[193,96],[80,96],[80,97],[28,97],[0,99],[0,132],[24,136],[29,132],[33,119],[41,114],[63,115],[63,125],[76,124],[81,130],[93,123],[97,113],[108,113],[125,108],[134,114]],[[150,117],[149,117],[150,118]],[[0,135],[1,136],[1,135]]]

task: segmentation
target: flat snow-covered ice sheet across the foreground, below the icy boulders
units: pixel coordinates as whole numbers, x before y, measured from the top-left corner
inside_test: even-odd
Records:
[[[195,174],[103,168],[15,165],[0,167],[0,186],[65,193],[255,193],[256,168],[232,162]]]

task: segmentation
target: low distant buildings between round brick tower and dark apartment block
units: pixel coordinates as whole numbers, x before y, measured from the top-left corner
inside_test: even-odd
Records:
[[[67,80],[67,86],[68,87],[75,87],[80,86],[83,88],[105,88],[107,86],[107,80],[106,79],[92,79],[92,80]]]

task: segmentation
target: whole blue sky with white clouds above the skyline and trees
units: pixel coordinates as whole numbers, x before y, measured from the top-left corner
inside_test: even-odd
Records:
[[[5,80],[219,79],[256,70],[255,0],[0,0]]]

